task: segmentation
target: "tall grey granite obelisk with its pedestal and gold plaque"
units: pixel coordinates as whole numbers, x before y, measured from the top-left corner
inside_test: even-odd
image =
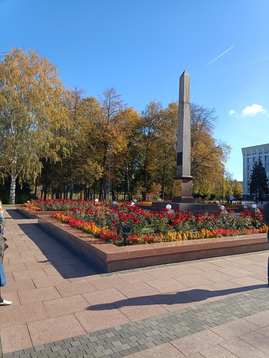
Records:
[[[177,166],[174,179],[173,203],[194,203],[191,176],[191,87],[185,70],[179,79]]]

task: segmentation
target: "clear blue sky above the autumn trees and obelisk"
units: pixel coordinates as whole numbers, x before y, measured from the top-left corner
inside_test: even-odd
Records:
[[[215,138],[242,180],[241,147],[269,142],[268,10],[267,0],[0,0],[0,53],[38,48],[65,86],[95,97],[115,86],[138,111],[178,99],[186,69],[191,101],[216,108]]]

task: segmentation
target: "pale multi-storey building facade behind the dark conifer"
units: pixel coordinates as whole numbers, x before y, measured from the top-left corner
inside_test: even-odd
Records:
[[[261,158],[263,166],[269,177],[269,144],[261,144],[253,147],[242,148],[243,154],[243,199],[250,197],[249,183],[253,163]]]

